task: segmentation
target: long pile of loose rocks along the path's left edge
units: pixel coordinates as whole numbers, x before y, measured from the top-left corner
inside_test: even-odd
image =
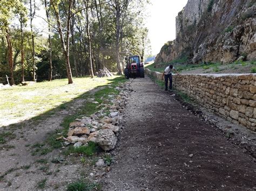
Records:
[[[77,147],[95,142],[104,151],[112,150],[116,146],[118,125],[129,100],[130,84],[131,81],[119,84],[115,88],[120,91],[119,95],[109,95],[109,98],[97,107],[102,109],[90,117],[82,117],[70,123],[68,137],[65,138],[66,144],[72,143]],[[107,112],[110,112],[109,115]]]

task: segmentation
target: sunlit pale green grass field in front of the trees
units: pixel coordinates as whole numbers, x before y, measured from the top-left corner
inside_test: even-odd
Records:
[[[105,86],[113,81],[117,82],[117,77],[120,79],[120,76],[94,79],[74,78],[73,84],[68,84],[67,79],[61,79],[38,82],[31,86],[0,89],[0,126],[30,119],[43,113],[55,114],[55,108],[65,109],[66,103],[89,90]]]

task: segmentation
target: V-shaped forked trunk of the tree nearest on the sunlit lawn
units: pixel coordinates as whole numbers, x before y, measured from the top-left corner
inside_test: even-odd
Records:
[[[59,10],[58,10],[58,8],[56,9],[54,4],[52,5],[53,9],[55,11],[56,19],[57,19],[58,32],[59,32],[60,41],[61,41],[61,44],[62,44],[63,55],[65,56],[66,73],[68,75],[69,84],[73,83],[72,72],[71,72],[70,62],[69,62],[69,30],[70,30],[71,3],[72,3],[72,1],[69,0],[68,19],[67,19],[67,31],[66,31],[66,45],[65,45],[65,41],[64,41],[63,32],[62,32],[62,25],[60,23]]]

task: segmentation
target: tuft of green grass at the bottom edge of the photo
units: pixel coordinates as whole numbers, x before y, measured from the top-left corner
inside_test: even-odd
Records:
[[[99,183],[87,183],[82,180],[70,183],[67,186],[68,191],[85,191],[92,189],[100,190],[101,186],[99,185]]]

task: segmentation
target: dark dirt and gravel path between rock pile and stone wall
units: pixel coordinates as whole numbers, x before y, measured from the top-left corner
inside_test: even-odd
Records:
[[[256,164],[149,77],[135,79],[103,189],[254,190]]]

